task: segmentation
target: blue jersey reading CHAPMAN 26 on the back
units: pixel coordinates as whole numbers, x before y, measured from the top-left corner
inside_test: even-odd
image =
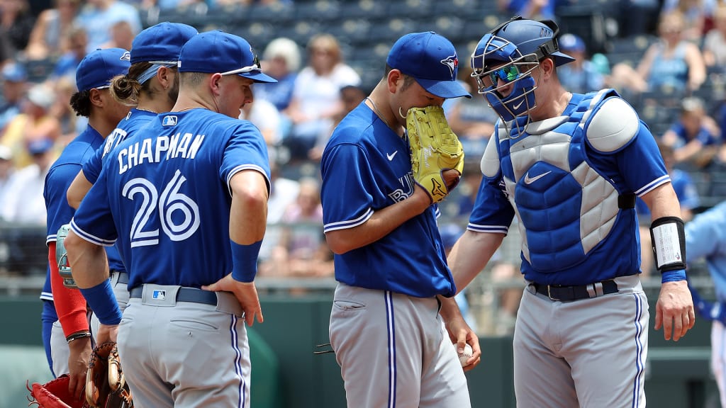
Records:
[[[243,170],[269,187],[252,123],[206,109],[160,114],[113,150],[71,228],[97,245],[121,237],[129,290],[210,285],[232,272],[229,180]]]

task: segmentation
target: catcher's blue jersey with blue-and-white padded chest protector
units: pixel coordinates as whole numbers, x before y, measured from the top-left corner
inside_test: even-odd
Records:
[[[613,133],[619,137],[614,143],[602,137],[608,130],[597,129],[618,114],[632,123],[623,126],[627,134]],[[516,208],[521,269],[532,282],[585,285],[636,274],[635,209],[619,208],[618,197],[642,196],[669,182],[669,176],[635,110],[603,90],[574,94],[562,116],[529,123],[523,134],[510,134],[502,123],[498,128],[484,153],[468,229],[506,234]],[[509,123],[512,128],[517,126]]]

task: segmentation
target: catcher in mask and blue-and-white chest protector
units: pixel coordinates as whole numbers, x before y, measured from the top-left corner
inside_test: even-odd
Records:
[[[472,54],[499,115],[468,230],[449,256],[464,287],[516,215],[523,292],[514,332],[521,407],[645,407],[648,301],[638,277],[635,196],[653,215],[661,294],[656,330],[693,327],[678,200],[653,135],[611,89],[573,94],[556,67],[558,27],[514,17]]]

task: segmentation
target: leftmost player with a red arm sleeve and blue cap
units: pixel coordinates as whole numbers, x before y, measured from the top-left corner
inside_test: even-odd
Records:
[[[52,370],[54,375],[70,373],[70,392],[76,396],[81,394],[86,383],[91,332],[86,301],[78,290],[63,285],[58,272],[56,238],[60,227],[68,224],[74,213],[65,198],[70,181],[78,173],[83,160],[101,146],[105,136],[129,112],[129,108],[116,102],[108,90],[111,78],[126,73],[128,69],[129,52],[120,48],[97,50],[81,60],[76,70],[78,92],[70,98],[70,105],[76,114],[89,118],[89,126],[65,147],[45,179],[43,197],[47,209],[49,267],[41,298],[47,299],[50,295],[53,302],[46,301],[44,305],[54,306],[58,316],[49,343]],[[118,251],[112,247],[108,248],[107,258],[111,263],[121,264]],[[47,290],[49,286],[52,291]]]

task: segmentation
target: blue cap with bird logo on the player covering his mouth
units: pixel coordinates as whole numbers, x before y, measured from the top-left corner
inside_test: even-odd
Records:
[[[433,31],[399,38],[388,53],[386,64],[412,76],[423,89],[437,97],[471,97],[457,82],[459,57],[454,44]]]

